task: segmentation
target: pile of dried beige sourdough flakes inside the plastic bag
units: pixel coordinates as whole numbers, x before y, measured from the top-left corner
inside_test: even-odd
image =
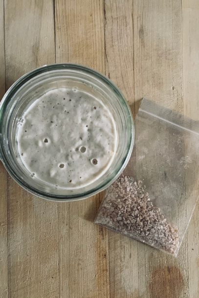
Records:
[[[179,237],[176,226],[167,222],[153,206],[142,181],[117,179],[106,192],[95,223],[176,255]]]

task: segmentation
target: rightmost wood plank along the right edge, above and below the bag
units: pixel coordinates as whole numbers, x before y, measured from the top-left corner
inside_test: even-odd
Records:
[[[182,0],[184,114],[199,121],[199,3]],[[199,202],[188,228],[189,297],[199,297]]]

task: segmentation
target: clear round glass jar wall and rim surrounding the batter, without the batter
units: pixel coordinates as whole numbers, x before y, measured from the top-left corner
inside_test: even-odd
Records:
[[[31,177],[18,152],[17,133],[24,112],[36,99],[56,88],[75,88],[99,98],[109,108],[117,128],[117,149],[110,168],[79,189],[56,188]],[[107,77],[82,65],[52,64],[37,68],[16,81],[0,103],[0,159],[19,185],[45,199],[79,200],[108,188],[127,165],[133,142],[133,117],[124,95]]]

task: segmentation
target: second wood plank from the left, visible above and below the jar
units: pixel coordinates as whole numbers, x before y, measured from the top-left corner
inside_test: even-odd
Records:
[[[55,62],[53,1],[5,1],[6,88]],[[8,179],[8,297],[58,298],[58,204]]]

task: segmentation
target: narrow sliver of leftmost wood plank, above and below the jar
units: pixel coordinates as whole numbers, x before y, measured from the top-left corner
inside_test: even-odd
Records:
[[[5,93],[4,8],[0,1],[0,100]],[[0,298],[8,297],[7,172],[0,161]]]

